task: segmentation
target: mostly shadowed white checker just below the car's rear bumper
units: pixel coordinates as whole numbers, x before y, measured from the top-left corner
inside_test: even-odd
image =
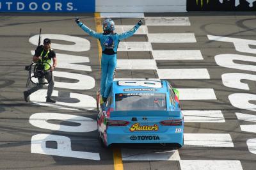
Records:
[[[178,150],[163,151],[163,150],[138,150],[138,149],[122,149],[123,160],[180,160]]]

